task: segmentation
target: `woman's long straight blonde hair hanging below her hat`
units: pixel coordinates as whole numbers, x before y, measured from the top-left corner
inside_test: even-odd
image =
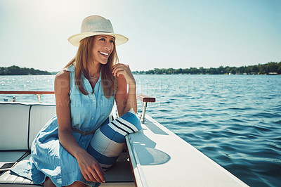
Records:
[[[93,56],[92,56],[92,49],[93,49],[93,42],[94,42],[94,36],[93,37],[87,37],[85,39],[82,39],[79,44],[79,48],[77,50],[76,56],[70,60],[70,63],[68,63],[66,67],[70,67],[70,65],[75,66],[75,72],[74,72],[74,79],[75,84],[78,87],[79,91],[83,93],[84,95],[88,95],[88,91],[84,89],[83,82],[81,79],[81,75],[83,74],[86,79],[89,79],[89,71],[87,70],[88,63],[92,62]],[[101,71],[101,84],[103,88],[103,93],[106,98],[110,98],[110,96],[115,95],[115,91],[117,90],[117,81],[115,77],[112,75],[112,66],[115,65],[115,63],[118,62],[118,56],[116,52],[115,43],[113,45],[113,51],[110,54],[107,63],[105,65],[100,64],[100,71]],[[90,82],[92,89],[94,89],[93,84]],[[93,93],[93,92],[92,92]]]

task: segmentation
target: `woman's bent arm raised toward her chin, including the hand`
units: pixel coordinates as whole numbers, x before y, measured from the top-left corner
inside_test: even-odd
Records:
[[[113,76],[117,76],[117,93],[115,101],[117,104],[118,115],[124,115],[131,108],[137,112],[136,80],[133,78],[129,65],[120,63],[114,65],[112,74]]]

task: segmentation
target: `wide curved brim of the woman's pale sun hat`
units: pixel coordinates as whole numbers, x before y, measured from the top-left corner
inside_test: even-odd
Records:
[[[109,32],[83,32],[83,33],[72,35],[71,37],[68,38],[68,41],[70,41],[70,44],[78,47],[81,39],[84,39],[86,37],[93,37],[96,35],[109,35],[115,37],[115,44],[117,46],[125,44],[129,40],[127,37],[124,37],[121,34],[115,34]]]

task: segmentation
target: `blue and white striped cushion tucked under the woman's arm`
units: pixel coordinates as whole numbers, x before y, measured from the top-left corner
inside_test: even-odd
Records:
[[[122,153],[125,136],[141,129],[141,122],[132,109],[116,120],[110,115],[96,130],[87,151],[98,160],[105,171],[115,163]]]

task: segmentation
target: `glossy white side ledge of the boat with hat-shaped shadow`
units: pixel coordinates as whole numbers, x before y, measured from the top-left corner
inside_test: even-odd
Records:
[[[145,116],[126,143],[137,186],[247,186],[162,124]]]

